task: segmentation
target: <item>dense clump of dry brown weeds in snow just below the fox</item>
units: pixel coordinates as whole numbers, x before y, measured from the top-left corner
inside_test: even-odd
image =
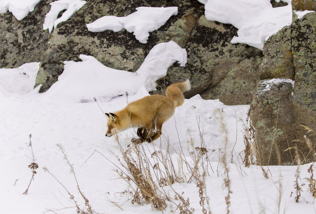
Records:
[[[157,210],[165,210],[167,206],[166,200],[172,203],[174,202],[162,187],[171,187],[175,182],[183,183],[185,181],[185,173],[182,167],[185,164],[191,172],[191,177],[188,181],[194,180],[194,182],[197,183],[201,198],[200,205],[203,208],[203,212],[207,213],[204,207],[205,197],[203,196],[205,183],[198,170],[198,167],[203,164],[203,156],[208,152],[206,148],[196,147],[195,150],[191,152],[193,161],[193,166],[191,166],[188,161],[185,160],[182,150],[180,154],[178,154],[170,146],[168,141],[165,150],[162,146],[157,150],[152,144],[143,143],[141,139],[133,138],[131,140],[132,143],[127,146],[127,149],[122,147],[117,136],[116,141],[118,142],[122,158],[112,153],[117,157],[120,165],[114,164],[116,166],[115,172],[119,174],[121,179],[127,182],[129,190],[124,193],[133,197],[131,201],[133,204],[142,204],[142,200],[144,200]],[[150,156],[146,154],[144,149],[145,145],[147,145],[147,147],[151,145],[152,148],[154,148],[154,152]],[[173,165],[173,152],[177,154],[177,161],[179,161],[178,169]],[[177,209],[180,210],[180,213],[194,212],[194,209],[190,208],[189,199],[185,200],[179,193],[175,192],[175,200],[179,201]]]

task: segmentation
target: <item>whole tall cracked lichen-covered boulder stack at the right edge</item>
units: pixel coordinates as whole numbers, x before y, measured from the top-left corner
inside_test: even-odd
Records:
[[[250,116],[256,129],[258,164],[296,164],[294,149],[285,151],[291,147],[299,149],[304,163],[315,161],[311,148],[316,144],[316,136],[310,133],[308,141],[304,137],[307,131],[302,127],[316,131],[315,34],[316,13],[308,13],[302,19],[293,13],[291,28],[283,28],[264,44],[267,58],[260,66],[260,77],[283,80],[270,80],[274,82],[270,87],[269,79],[263,80],[254,93]],[[283,41],[279,41],[281,38]],[[284,80],[293,79],[293,75],[294,88],[286,83],[289,79]]]

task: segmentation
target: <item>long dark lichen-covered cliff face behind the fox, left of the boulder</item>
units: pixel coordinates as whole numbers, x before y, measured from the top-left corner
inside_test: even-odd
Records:
[[[43,85],[40,92],[57,81],[64,61],[78,61],[80,54],[94,56],[111,68],[136,72],[152,47],[172,40],[187,50],[188,62],[185,67],[171,66],[167,76],[159,81],[160,90],[152,93],[161,93],[161,89],[174,82],[190,79],[193,87],[187,98],[200,93],[204,99],[220,99],[228,105],[250,103],[249,93],[259,78],[262,51],[245,44],[231,44],[237,29],[206,20],[204,5],[198,1],[90,0],[49,34],[42,25],[51,2],[42,1],[21,21],[9,12],[0,16],[0,66],[13,68],[40,61],[35,85]],[[139,6],[176,6],[178,15],[150,33],[147,44],[137,41],[125,29],[118,33],[93,33],[86,27],[102,16],[127,16]]]

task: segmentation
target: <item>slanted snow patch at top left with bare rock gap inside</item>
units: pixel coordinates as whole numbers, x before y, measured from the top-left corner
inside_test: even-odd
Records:
[[[53,28],[60,22],[67,21],[76,11],[82,8],[87,2],[82,0],[59,0],[50,3],[52,5],[50,11],[46,14],[43,28],[44,30],[49,29],[49,33],[52,32]],[[66,10],[63,15],[57,19],[58,14]]]

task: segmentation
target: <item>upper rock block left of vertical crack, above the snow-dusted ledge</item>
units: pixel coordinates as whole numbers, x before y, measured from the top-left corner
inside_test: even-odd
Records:
[[[288,78],[294,80],[291,27],[286,26],[264,42],[264,59],[259,67],[260,79]]]

